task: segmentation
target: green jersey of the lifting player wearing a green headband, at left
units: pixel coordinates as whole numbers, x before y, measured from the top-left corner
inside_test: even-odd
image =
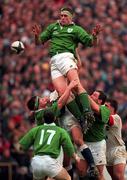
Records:
[[[51,109],[52,112],[54,112],[55,117],[58,117],[60,114],[60,109],[58,108],[58,104],[57,101],[52,103],[51,106],[47,107],[48,109]],[[37,125],[41,125],[44,121],[43,121],[43,115],[44,115],[44,111],[46,108],[44,109],[39,109],[37,111],[35,111],[35,122]]]

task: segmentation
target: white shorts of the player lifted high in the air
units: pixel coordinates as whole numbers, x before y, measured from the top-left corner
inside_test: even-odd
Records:
[[[65,76],[70,69],[77,69],[77,60],[70,52],[56,54],[51,58],[51,77]]]

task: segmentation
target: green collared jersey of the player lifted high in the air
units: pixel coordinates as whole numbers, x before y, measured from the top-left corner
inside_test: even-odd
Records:
[[[61,26],[59,22],[50,24],[39,36],[42,43],[50,40],[50,55],[71,52],[75,55],[78,43],[85,47],[92,46],[93,36],[74,23]]]

